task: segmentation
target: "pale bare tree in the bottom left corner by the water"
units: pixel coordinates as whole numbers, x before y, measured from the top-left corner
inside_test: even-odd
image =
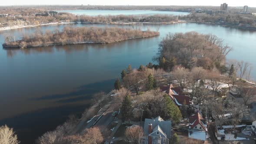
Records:
[[[14,134],[13,128],[7,125],[0,127],[0,144],[19,144],[18,137]]]

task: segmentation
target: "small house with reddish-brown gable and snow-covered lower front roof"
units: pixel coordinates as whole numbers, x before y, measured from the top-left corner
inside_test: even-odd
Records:
[[[188,137],[203,141],[206,140],[207,121],[202,117],[200,111],[189,118]]]

